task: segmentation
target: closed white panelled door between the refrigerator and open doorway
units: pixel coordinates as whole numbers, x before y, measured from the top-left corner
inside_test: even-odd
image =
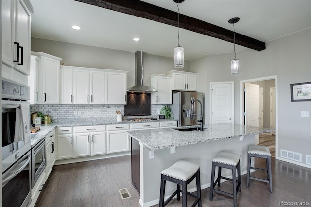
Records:
[[[234,123],[233,88],[233,82],[211,84],[211,123]]]

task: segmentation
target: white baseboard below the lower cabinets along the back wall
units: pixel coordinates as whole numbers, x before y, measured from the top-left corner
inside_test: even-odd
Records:
[[[86,156],[86,157],[71,158],[71,159],[60,159],[60,160],[56,160],[54,165],[64,165],[64,164],[70,164],[70,163],[76,163],[76,162],[85,162],[85,161],[91,161],[91,160],[97,160],[97,159],[106,159],[106,158],[126,156],[126,155],[131,155],[131,152],[96,155],[96,156]]]

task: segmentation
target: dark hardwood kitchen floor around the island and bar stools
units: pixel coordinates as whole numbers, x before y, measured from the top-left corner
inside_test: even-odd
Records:
[[[256,167],[264,167],[263,161],[256,158]],[[266,177],[264,172],[252,174]],[[242,175],[238,206],[277,207],[280,201],[306,201],[311,205],[311,169],[272,158],[272,179],[273,193],[270,193],[267,183],[255,180],[250,180],[247,188],[246,175]],[[122,200],[118,192],[121,188],[127,188],[132,197]],[[231,190],[232,183],[222,183],[221,189]],[[187,198],[190,206],[194,199]],[[54,166],[36,207],[139,207],[138,201],[138,193],[131,185],[131,158],[123,156]],[[202,190],[202,207],[232,205],[232,198],[218,193],[209,201],[209,188]],[[174,199],[167,206],[181,207],[181,200]]]

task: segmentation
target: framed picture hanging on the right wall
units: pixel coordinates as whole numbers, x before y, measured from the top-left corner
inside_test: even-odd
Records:
[[[291,84],[291,101],[311,101],[311,82]]]

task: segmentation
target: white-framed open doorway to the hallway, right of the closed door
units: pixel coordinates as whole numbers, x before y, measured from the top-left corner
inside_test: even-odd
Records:
[[[273,133],[259,135],[256,144],[267,146],[272,156],[278,156],[277,136],[277,76],[262,77],[240,81],[240,124],[245,125],[245,94],[246,83],[259,85],[259,116],[258,125],[264,128],[273,128]]]

